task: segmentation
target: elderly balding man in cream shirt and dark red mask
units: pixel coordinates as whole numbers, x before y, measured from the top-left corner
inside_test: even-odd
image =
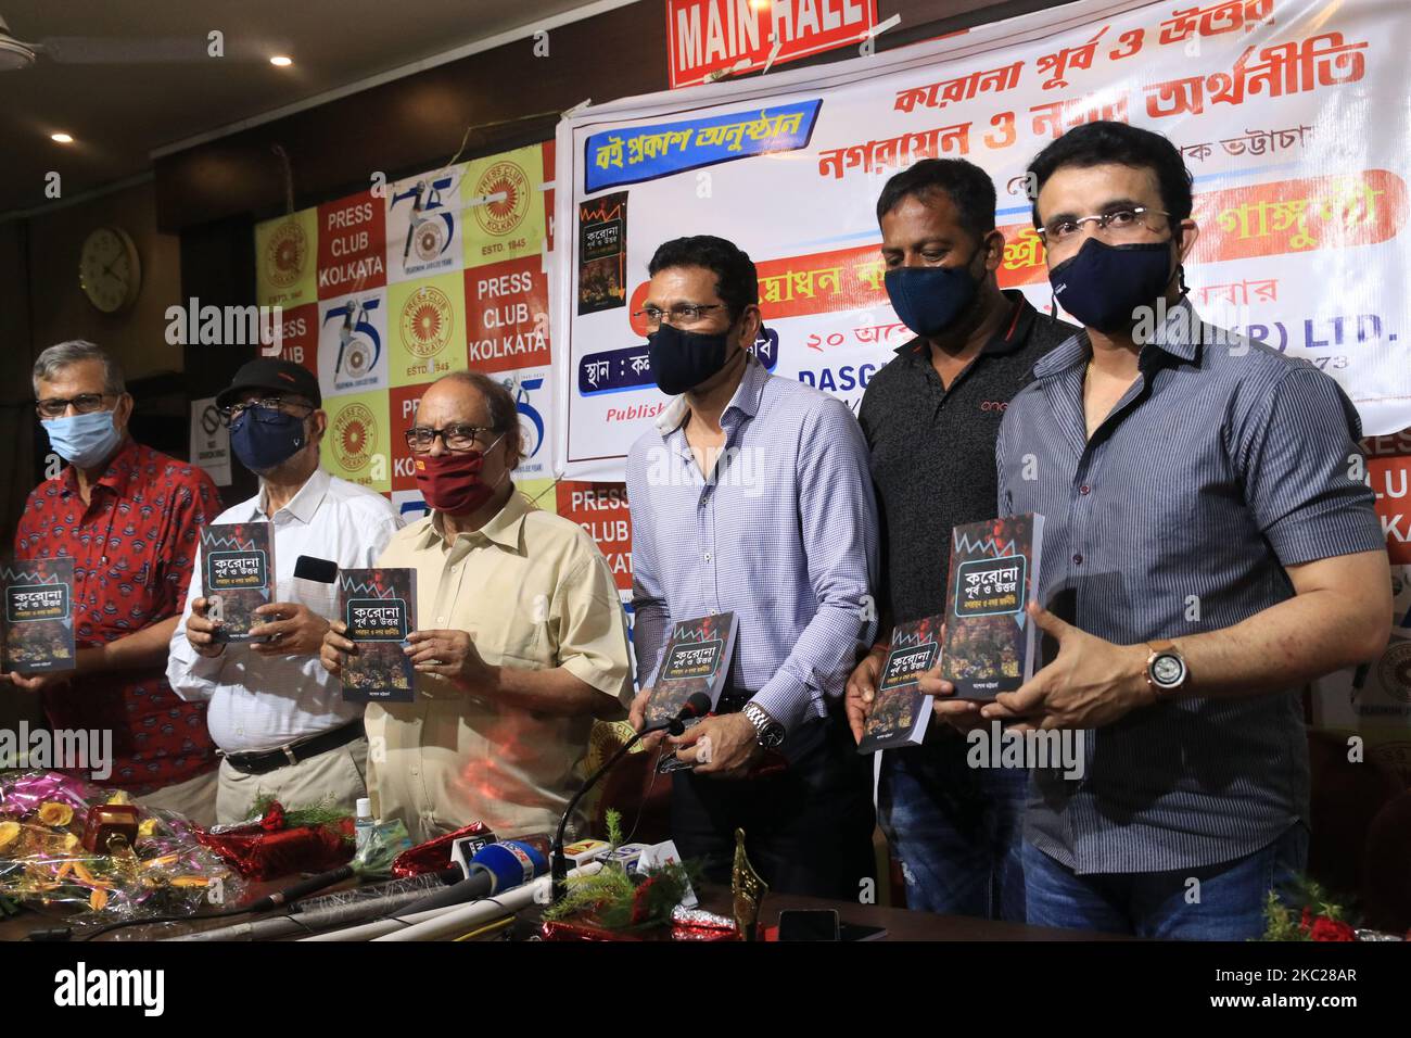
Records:
[[[626,619],[593,538],[538,510],[509,473],[522,459],[514,398],[457,371],[422,395],[406,432],[430,514],[380,566],[416,569],[411,703],[367,708],[368,792],[416,842],[484,822],[501,839],[550,832],[583,782],[594,719],[626,716]],[[334,621],[322,660],[357,645]],[[583,819],[574,819],[581,830]]]

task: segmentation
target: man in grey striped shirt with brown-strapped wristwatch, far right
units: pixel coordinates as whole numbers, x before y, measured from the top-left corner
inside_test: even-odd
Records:
[[[1352,402],[1204,323],[1181,261],[1191,177],[1164,137],[1089,123],[1030,164],[1057,299],[1084,330],[1005,414],[1000,514],[1046,518],[1048,661],[981,715],[1079,729],[1036,770],[1029,922],[1243,939],[1307,863],[1300,689],[1390,633]]]

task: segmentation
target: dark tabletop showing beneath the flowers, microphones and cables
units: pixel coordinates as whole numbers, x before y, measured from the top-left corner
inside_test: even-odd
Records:
[[[250,883],[247,884],[248,898],[253,901],[257,897],[262,897],[271,891],[288,887],[293,881],[295,881],[293,878],[285,878],[274,883]],[[320,891],[320,893],[346,890],[351,885],[353,885],[351,883],[343,883],[337,887],[330,887],[329,891]],[[729,891],[704,890],[701,891],[701,900],[704,907],[728,915]],[[886,936],[883,938],[885,941],[1113,941],[1113,939],[1120,941],[1125,939],[1120,935],[1112,935],[1112,933],[1094,933],[1089,931],[1070,931],[1070,929],[1043,929],[1040,926],[1024,926],[1013,922],[992,922],[989,919],[975,919],[964,915],[933,915],[931,912],[913,912],[906,908],[889,908],[885,905],[862,905],[848,901],[830,901],[825,898],[800,897],[794,894],[768,894],[765,898],[763,908],[761,911],[761,921],[766,926],[773,926],[779,922],[779,912],[789,908],[837,909],[838,918],[845,924],[851,922],[851,924],[861,924],[865,926],[882,926],[883,929],[886,929]],[[227,926],[234,922],[244,922],[254,918],[272,918],[279,914],[281,912],[267,912],[260,917],[240,915],[231,919],[205,919],[200,922],[189,924],[189,931],[213,929],[216,926]],[[62,917],[24,911],[11,919],[0,922],[0,941],[23,941],[24,938],[28,936],[30,931],[47,929],[62,925],[63,925]],[[140,926],[133,926],[131,929],[137,931],[138,933],[141,932]],[[174,936],[178,932],[186,932],[186,931],[178,931],[171,926],[164,926],[159,931],[157,931],[157,933],[159,933],[161,936]],[[97,939],[104,941],[107,939],[107,935],[100,936]]]

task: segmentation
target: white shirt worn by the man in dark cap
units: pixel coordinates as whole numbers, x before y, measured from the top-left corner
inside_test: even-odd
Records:
[[[302,602],[334,619],[334,585],[299,580],[301,555],[330,559],[339,569],[375,566],[401,525],[392,503],[356,483],[317,469],[299,493],[265,518],[265,493],[227,508],[216,523],[274,523],[275,600]],[[202,597],[202,561],[192,572],[186,609],[172,634],[166,679],[182,699],[210,700],[206,724],[224,753],[275,750],[363,716],[363,703],[343,702],[343,686],[317,655],[262,657],[248,645],[226,645],[219,657],[199,655],[186,641],[190,603]],[[326,589],[326,592],[325,592]]]

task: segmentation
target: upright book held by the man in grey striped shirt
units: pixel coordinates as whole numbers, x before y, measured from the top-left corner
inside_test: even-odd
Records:
[[[1024,606],[1038,587],[1044,517],[1027,513],[951,531],[941,675],[958,699],[993,699],[1034,674],[1038,627]]]

